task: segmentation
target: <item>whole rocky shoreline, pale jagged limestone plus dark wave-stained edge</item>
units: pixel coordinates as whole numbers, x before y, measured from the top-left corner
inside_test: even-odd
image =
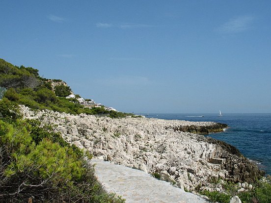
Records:
[[[115,164],[157,174],[177,187],[222,192],[214,180],[250,182],[264,175],[235,147],[204,135],[223,130],[214,122],[188,122],[148,118],[95,117],[22,106],[28,119],[38,119],[60,132],[69,143]],[[243,184],[241,184],[243,183]],[[242,188],[243,187],[243,188]]]

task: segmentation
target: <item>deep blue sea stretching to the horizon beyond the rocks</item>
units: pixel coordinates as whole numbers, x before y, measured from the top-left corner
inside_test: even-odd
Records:
[[[185,121],[214,121],[228,125],[221,133],[207,136],[225,141],[240,150],[271,175],[271,114],[149,114],[146,118]]]

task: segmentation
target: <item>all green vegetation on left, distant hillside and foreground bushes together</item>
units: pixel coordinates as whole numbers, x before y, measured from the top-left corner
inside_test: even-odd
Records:
[[[0,59],[0,87],[7,89],[0,100],[0,203],[124,202],[107,193],[94,176],[91,154],[68,144],[52,127],[23,119],[18,104],[71,114],[126,115],[67,100],[71,89],[65,84]]]

